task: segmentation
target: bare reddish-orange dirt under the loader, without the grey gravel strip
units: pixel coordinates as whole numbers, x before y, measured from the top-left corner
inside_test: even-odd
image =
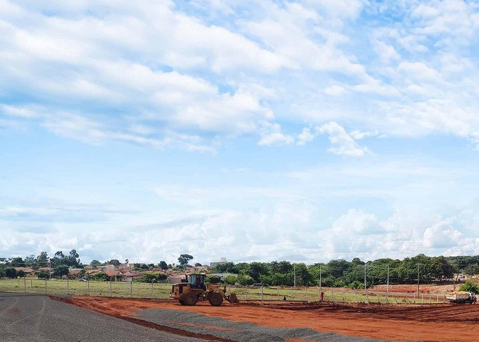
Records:
[[[115,317],[136,316],[146,308],[166,308],[249,321],[276,328],[312,328],[320,332],[392,340],[478,341],[479,305],[378,305],[282,302],[224,303],[210,306],[177,302],[73,296],[64,300]],[[209,327],[211,328],[211,327]]]

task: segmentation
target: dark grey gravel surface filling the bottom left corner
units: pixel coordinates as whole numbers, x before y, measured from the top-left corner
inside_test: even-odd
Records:
[[[0,341],[203,341],[94,313],[45,295],[0,293]]]

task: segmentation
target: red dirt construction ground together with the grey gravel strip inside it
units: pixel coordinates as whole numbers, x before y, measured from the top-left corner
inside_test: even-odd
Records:
[[[142,326],[176,329],[185,336],[202,339],[213,336],[216,341],[479,339],[479,305],[470,304],[224,302],[210,306],[198,302],[195,306],[182,306],[172,301],[90,296],[55,299]]]

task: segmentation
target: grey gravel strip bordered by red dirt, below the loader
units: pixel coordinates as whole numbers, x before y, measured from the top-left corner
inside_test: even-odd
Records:
[[[310,328],[270,328],[249,322],[229,321],[187,311],[168,309],[147,309],[137,312],[140,319],[163,326],[181,328],[191,332],[212,334],[223,339],[239,342],[285,341],[285,339],[306,339],[322,342],[372,342],[384,341],[363,337],[349,337],[334,332],[318,332]],[[347,324],[347,322],[345,322]]]

